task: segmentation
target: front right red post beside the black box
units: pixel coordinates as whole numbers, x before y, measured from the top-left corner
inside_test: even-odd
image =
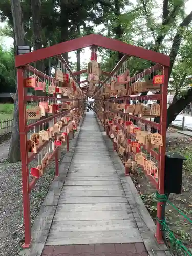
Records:
[[[164,176],[165,176],[165,152],[166,152],[166,123],[167,123],[167,90],[168,90],[168,73],[169,68],[164,68],[165,82],[161,87],[161,135],[163,137],[163,146],[160,147],[160,164],[159,164],[159,194],[164,194]],[[157,203],[157,218],[162,220],[164,202]],[[157,221],[156,238],[158,243],[163,243],[162,225]]]

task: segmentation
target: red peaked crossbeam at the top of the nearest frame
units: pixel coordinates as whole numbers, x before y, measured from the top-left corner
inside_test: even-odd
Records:
[[[111,39],[102,35],[91,34],[83,37],[79,37],[70,41],[61,42],[60,44],[42,48],[31,53],[19,55],[15,57],[15,66],[27,65],[42,59],[56,57],[63,53],[75,51],[84,47],[96,45],[112,51],[121,52],[123,54],[134,56],[137,58],[145,59],[154,63],[159,63],[163,66],[169,66],[169,56],[144,49],[142,47],[126,44],[119,40]]]

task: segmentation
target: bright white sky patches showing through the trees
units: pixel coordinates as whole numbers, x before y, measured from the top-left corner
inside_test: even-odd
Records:
[[[1,0],[0,0],[1,1]],[[135,0],[131,0],[131,2],[133,4],[136,4],[136,1]],[[162,4],[163,3],[163,0],[156,0],[156,2],[158,4]],[[191,11],[192,11],[192,5],[191,5],[191,0],[188,0],[185,4],[185,12],[186,14],[189,14]],[[125,11],[127,10],[127,8],[125,9]],[[159,17],[159,9],[154,9],[154,15]],[[5,23],[0,23],[0,27],[3,27],[5,26]],[[102,25],[98,26],[95,28],[95,32],[99,31],[100,29],[102,29]],[[3,41],[3,45],[5,48],[10,48],[12,45],[13,45],[13,39],[12,38],[9,38],[9,37],[1,37],[0,38],[1,41]],[[152,40],[152,38],[148,38],[149,40]],[[89,47],[87,48],[84,48],[84,52],[81,53],[81,64],[82,63],[88,63],[90,61],[90,54],[91,54],[91,51],[89,49]],[[69,53],[69,56],[71,57],[71,61],[72,62],[76,62],[76,55],[74,52],[71,52]],[[99,58],[98,56],[98,62],[100,62],[101,59]],[[83,78],[81,80],[84,80]]]

